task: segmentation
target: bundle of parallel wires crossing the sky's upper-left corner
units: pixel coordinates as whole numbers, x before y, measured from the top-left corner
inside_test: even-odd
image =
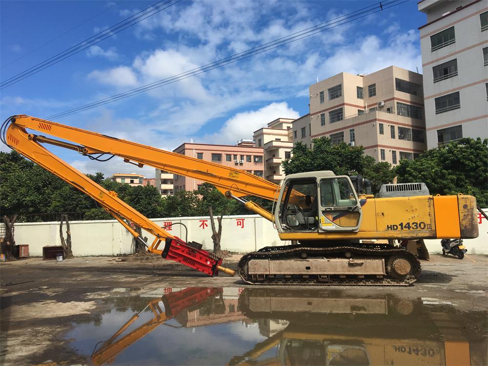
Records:
[[[80,43],[58,53],[57,55],[55,55],[55,56],[53,56],[53,57],[51,57],[45,61],[42,61],[42,62],[38,63],[37,65],[30,67],[29,69],[21,72],[20,74],[17,74],[15,76],[11,77],[10,79],[3,81],[0,84],[0,90],[6,88],[8,86],[11,86],[11,85],[13,85],[13,84],[25,79],[25,78],[28,78],[29,76],[37,74],[41,70],[44,70],[47,67],[50,67],[50,66],[66,59],[68,57],[71,57],[71,56],[83,51],[84,49],[91,47],[94,44],[97,44],[97,43],[99,43],[99,42],[101,42],[101,41],[103,41],[109,37],[112,37],[113,35],[115,35],[119,32],[122,32],[122,30],[127,29],[127,28],[141,22],[142,20],[145,20],[149,17],[152,17],[153,15],[163,11],[164,9],[169,8],[170,6],[177,4],[180,1],[182,1],[182,0],[158,1],[155,4],[145,8],[144,10],[141,10],[140,12],[134,14],[133,16],[126,18],[125,20],[122,20],[121,22],[103,30],[102,32],[99,32],[96,35],[94,35],[94,36],[92,36],[92,37],[90,37],[84,41],[81,41]]]

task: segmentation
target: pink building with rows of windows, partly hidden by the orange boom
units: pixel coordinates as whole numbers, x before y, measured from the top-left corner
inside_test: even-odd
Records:
[[[185,142],[174,149],[173,152],[207,162],[242,169],[258,177],[264,176],[263,147],[256,147],[252,140],[241,140],[236,145]],[[194,178],[174,175],[175,191],[193,191],[198,189],[203,183],[203,181]]]

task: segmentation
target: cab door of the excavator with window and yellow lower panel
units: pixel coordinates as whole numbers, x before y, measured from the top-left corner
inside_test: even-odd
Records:
[[[320,178],[318,185],[319,231],[358,231],[363,212],[349,177]]]

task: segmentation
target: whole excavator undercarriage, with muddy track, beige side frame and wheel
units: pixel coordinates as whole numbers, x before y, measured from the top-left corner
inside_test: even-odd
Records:
[[[396,285],[416,281],[420,261],[381,245],[267,246],[242,257],[238,274],[250,285]]]

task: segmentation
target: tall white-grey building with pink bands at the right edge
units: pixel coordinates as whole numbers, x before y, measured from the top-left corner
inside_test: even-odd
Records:
[[[488,138],[487,1],[423,0],[420,29],[427,147]]]

